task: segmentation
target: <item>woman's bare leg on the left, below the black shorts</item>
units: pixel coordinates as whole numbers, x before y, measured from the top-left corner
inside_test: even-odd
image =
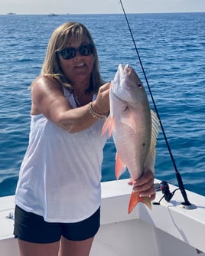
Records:
[[[21,256],[57,256],[60,242],[50,244],[36,244],[28,241],[18,240]]]

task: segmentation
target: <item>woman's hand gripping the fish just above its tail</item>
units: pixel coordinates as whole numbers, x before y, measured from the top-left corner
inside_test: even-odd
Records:
[[[148,196],[150,200],[155,199],[156,190],[154,186],[154,175],[153,172],[145,172],[142,177],[137,180],[130,180],[129,185],[133,185],[133,191],[139,192],[140,197]]]

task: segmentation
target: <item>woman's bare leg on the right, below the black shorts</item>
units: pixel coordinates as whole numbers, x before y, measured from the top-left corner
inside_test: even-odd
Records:
[[[83,241],[70,241],[61,237],[58,256],[89,256],[93,238]]]

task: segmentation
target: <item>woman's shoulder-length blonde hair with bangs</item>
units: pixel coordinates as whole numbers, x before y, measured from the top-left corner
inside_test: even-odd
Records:
[[[90,87],[88,92],[97,92],[99,87],[104,84],[101,75],[99,74],[99,60],[94,44],[93,38],[88,29],[79,22],[67,22],[56,28],[51,34],[50,41],[47,45],[47,52],[44,59],[44,64],[41,69],[41,76],[49,76],[57,79],[60,84],[73,90],[70,80],[63,75],[63,71],[60,68],[60,62],[58,59],[57,51],[67,48],[71,39],[75,37],[77,41],[82,42],[86,38],[88,43],[94,45],[93,51],[93,71],[90,77]]]

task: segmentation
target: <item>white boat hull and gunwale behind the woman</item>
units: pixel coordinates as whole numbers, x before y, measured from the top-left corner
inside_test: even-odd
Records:
[[[195,256],[205,255],[205,198],[187,192],[196,209],[181,208],[181,192],[171,202],[148,209],[142,203],[129,215],[131,187],[128,180],[102,182],[101,228],[93,242],[91,256]],[[159,182],[155,180],[155,182]],[[171,191],[176,187],[170,185]],[[161,199],[157,193],[156,202]],[[11,218],[14,196],[0,198],[0,251],[3,256],[18,256],[18,245],[13,238]]]

